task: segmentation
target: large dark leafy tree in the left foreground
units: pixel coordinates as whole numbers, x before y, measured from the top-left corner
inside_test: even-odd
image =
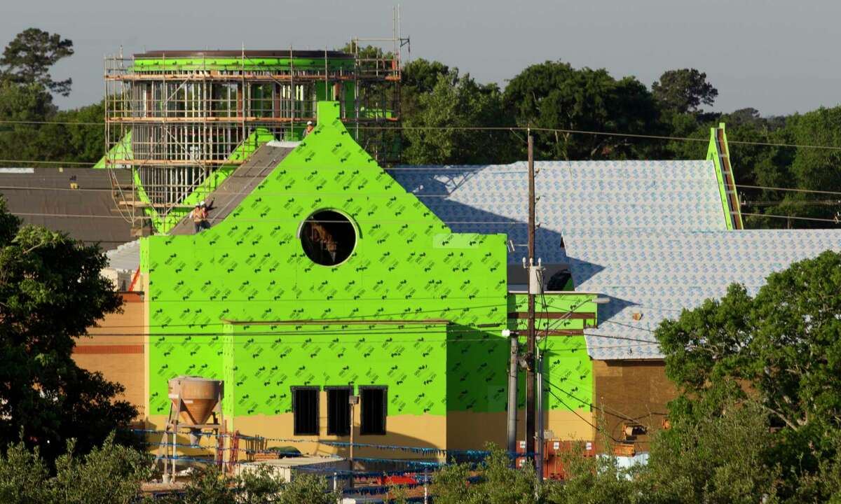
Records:
[[[47,459],[77,438],[87,453],[137,414],[123,387],[72,360],[76,340],[120,298],[100,275],[107,259],[45,228],[21,227],[0,198],[0,445],[24,441]]]

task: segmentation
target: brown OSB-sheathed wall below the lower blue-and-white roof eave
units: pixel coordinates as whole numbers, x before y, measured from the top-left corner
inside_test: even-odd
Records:
[[[648,429],[648,435],[634,439],[637,451],[648,451],[650,434],[662,427],[666,404],[676,396],[664,362],[594,360],[593,376],[595,404],[607,411],[602,420],[607,432],[623,439],[622,426],[628,421],[611,412],[630,417]],[[602,436],[596,436],[596,448],[604,449]]]

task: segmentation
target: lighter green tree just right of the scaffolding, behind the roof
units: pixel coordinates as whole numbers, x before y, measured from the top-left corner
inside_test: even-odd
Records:
[[[439,75],[435,87],[418,97],[418,112],[405,118],[406,162],[415,165],[483,164],[510,160],[507,131],[476,126],[510,124],[495,85],[479,85],[458,69]]]

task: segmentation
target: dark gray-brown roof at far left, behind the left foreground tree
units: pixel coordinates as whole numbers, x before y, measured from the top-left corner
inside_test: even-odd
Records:
[[[87,244],[115,249],[130,241],[112,192],[112,178],[131,186],[131,173],[93,168],[17,168],[0,171],[0,195],[24,223],[63,231]],[[71,189],[76,184],[77,189]]]

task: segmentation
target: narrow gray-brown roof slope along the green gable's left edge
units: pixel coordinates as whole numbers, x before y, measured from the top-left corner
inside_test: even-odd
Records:
[[[228,217],[297,145],[298,142],[272,141],[255,150],[245,163],[205,198],[209,205],[210,225]],[[182,218],[170,234],[193,234],[193,220],[189,216]]]

